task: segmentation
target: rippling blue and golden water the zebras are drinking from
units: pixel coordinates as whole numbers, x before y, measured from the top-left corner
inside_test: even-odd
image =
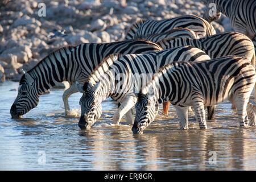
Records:
[[[89,131],[80,130],[80,94],[69,99],[77,117],[65,118],[61,89],[41,96],[38,107],[23,119],[11,119],[17,91],[9,90],[17,88],[17,82],[0,85],[0,169],[256,169],[256,127],[240,129],[228,102],[218,105],[217,119],[208,122],[208,130],[199,130],[193,113],[189,113],[189,130],[178,130],[171,107],[168,118],[160,115],[144,134],[133,135],[125,122],[112,125],[116,109],[112,100],[102,104],[101,121]]]

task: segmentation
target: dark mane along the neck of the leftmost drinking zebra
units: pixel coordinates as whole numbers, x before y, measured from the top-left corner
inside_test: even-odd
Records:
[[[35,67],[31,68],[29,71],[27,71],[27,73],[30,73],[31,71],[33,71],[34,69],[36,69],[40,64],[42,64],[47,57],[52,56],[53,54],[59,54],[61,52],[66,52],[66,51],[72,51],[72,49],[76,48],[76,46],[65,46],[65,47],[61,47],[61,48],[57,48],[55,50],[53,50],[51,53],[49,53],[49,55],[47,55],[46,57],[44,57],[42,60],[40,60],[38,62],[38,64],[35,65]],[[20,78],[19,84],[22,84],[23,82],[25,82],[25,75],[23,74],[22,77]]]

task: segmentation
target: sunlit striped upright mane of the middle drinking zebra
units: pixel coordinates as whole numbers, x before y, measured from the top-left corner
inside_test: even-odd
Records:
[[[97,77],[98,73],[100,72],[100,69],[102,69],[101,71],[105,72],[105,68],[109,68],[110,65],[112,65],[113,62],[119,59],[120,57],[122,57],[122,54],[120,53],[114,53],[112,55],[106,56],[104,59],[102,59],[101,63],[93,69],[92,73],[90,73],[90,76],[86,79],[85,83],[90,82],[93,80],[93,78]]]

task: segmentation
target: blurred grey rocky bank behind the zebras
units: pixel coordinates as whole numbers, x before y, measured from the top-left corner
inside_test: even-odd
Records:
[[[46,16],[38,15],[39,3]],[[138,18],[167,19],[179,15],[203,16],[199,0],[4,0],[0,2],[0,82],[19,81],[63,46],[123,40]],[[231,31],[229,19],[213,23],[217,32]]]

